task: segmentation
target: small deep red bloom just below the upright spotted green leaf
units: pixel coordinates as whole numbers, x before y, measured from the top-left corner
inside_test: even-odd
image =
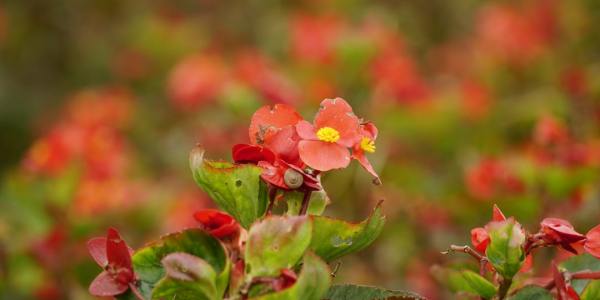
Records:
[[[240,235],[240,225],[230,215],[215,210],[203,209],[194,213],[194,219],[202,229],[221,240],[235,240]]]

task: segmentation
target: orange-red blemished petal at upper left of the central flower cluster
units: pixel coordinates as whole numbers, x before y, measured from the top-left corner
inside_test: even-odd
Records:
[[[285,126],[296,125],[300,120],[302,116],[292,106],[286,104],[263,106],[254,113],[250,121],[248,130],[250,143],[262,144],[266,135]]]

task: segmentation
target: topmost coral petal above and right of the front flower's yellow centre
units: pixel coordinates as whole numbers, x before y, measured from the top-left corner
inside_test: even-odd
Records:
[[[340,134],[338,144],[352,147],[361,138],[360,122],[352,107],[342,98],[325,99],[315,117],[315,128],[331,127]]]

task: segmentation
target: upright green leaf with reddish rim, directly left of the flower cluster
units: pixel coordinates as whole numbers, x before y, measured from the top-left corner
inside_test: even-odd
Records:
[[[261,168],[205,160],[200,148],[190,153],[190,168],[196,183],[244,228],[265,213],[268,200],[266,186],[260,180]]]

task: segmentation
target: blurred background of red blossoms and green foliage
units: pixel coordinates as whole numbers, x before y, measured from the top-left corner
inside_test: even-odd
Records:
[[[440,251],[494,203],[532,231],[599,222],[599,20],[595,0],[3,1],[0,299],[90,299],[89,237],[137,248],[213,206],[196,143],[229,159],[258,107],[310,120],[336,96],[378,125],[383,185],[331,172],[326,214],[385,199],[387,224],[335,281],[452,298],[441,268],[476,266]]]

